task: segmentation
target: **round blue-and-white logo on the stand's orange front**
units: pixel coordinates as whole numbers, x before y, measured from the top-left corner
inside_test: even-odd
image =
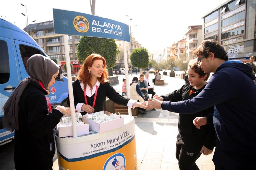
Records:
[[[116,153],[108,158],[103,166],[103,170],[113,169],[113,170],[124,170],[126,160],[124,154]]]

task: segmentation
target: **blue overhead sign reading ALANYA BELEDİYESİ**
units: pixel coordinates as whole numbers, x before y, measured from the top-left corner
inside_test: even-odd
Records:
[[[108,18],[53,8],[54,33],[130,42],[129,26]]]

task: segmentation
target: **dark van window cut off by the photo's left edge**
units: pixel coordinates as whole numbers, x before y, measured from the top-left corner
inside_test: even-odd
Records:
[[[7,43],[0,40],[0,84],[7,83],[10,78],[9,54]]]

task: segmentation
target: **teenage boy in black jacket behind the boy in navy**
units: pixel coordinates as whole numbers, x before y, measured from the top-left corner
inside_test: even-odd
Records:
[[[188,83],[184,84],[180,89],[175,90],[165,96],[155,95],[161,101],[182,101],[192,99],[197,96],[206,86],[206,80],[209,74],[205,74],[198,64],[189,65]],[[206,126],[197,129],[193,125],[193,120],[196,117],[212,117],[213,106],[194,114],[180,114],[176,141],[176,158],[179,160],[180,170],[199,170],[196,165],[196,160],[203,153],[204,155],[211,154],[215,146],[214,126],[210,121]]]

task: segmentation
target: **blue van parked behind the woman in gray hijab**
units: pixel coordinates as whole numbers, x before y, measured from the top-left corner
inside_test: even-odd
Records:
[[[49,57],[25,31],[0,18],[0,145],[14,138],[14,133],[3,129],[2,108],[20,81],[29,76],[26,64],[28,58],[34,54]],[[48,97],[52,105],[66,103],[68,79],[65,76],[57,80],[49,89]]]

